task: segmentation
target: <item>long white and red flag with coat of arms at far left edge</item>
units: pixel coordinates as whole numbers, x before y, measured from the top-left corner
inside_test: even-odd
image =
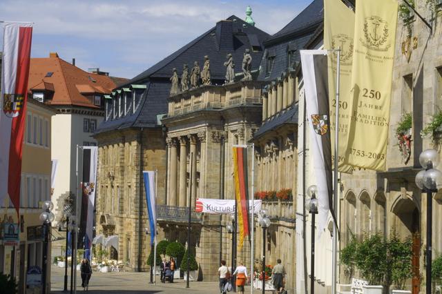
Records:
[[[6,195],[19,214],[32,23],[5,23],[0,104],[0,206]]]

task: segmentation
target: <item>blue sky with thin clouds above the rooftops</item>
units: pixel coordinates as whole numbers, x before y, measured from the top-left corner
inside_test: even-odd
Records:
[[[312,0],[1,0],[1,21],[32,21],[31,57],[132,78],[251,6],[256,27],[274,34]],[[1,23],[0,23],[1,25]],[[0,31],[3,48],[3,29]]]

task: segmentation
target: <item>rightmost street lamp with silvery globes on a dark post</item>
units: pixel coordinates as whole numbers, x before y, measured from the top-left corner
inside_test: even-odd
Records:
[[[442,188],[442,173],[434,168],[439,164],[439,153],[434,149],[424,150],[419,155],[419,163],[425,170],[416,175],[416,186],[423,193],[427,193],[427,249],[425,253],[427,267],[425,268],[425,293],[431,294],[431,267],[432,267],[432,193]]]

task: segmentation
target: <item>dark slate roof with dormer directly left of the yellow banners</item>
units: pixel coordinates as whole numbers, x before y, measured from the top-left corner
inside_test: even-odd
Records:
[[[299,50],[305,48],[319,26],[323,26],[323,0],[314,0],[302,10],[287,26],[265,41],[265,53],[262,56],[261,70],[258,76],[262,81],[273,81],[288,68],[287,50],[294,51],[294,61],[300,61]],[[273,68],[266,72],[267,57],[274,56]]]

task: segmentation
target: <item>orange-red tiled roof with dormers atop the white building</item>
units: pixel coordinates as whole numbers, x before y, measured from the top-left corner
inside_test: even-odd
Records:
[[[99,108],[84,94],[109,94],[117,86],[111,77],[85,72],[58,55],[50,56],[30,59],[28,82],[28,90],[54,92],[52,99],[46,101],[47,104]]]

